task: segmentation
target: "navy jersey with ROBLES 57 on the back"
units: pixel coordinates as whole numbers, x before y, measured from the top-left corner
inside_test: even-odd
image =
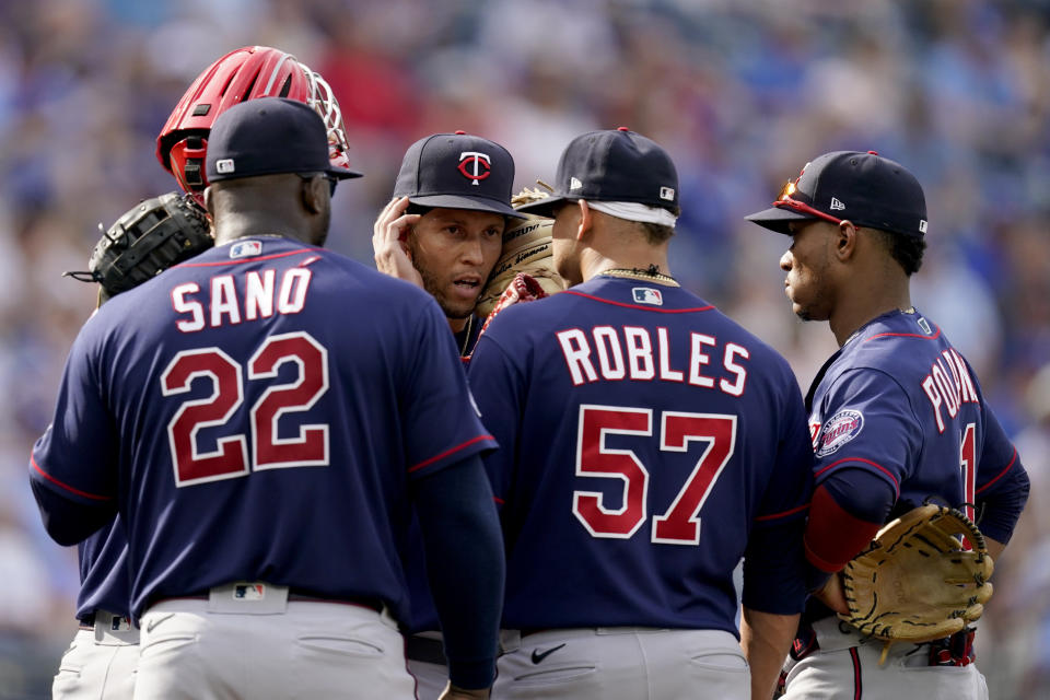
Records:
[[[500,313],[468,369],[501,448],[508,628],[736,633],[793,614],[813,453],[772,349],[680,288],[598,276]]]

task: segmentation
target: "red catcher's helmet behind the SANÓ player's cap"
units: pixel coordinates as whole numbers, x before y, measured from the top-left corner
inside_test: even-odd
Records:
[[[313,107],[328,129],[332,165],[349,166],[342,113],[320,73],[280,49],[245,46],[230,51],[197,77],[156,137],[156,159],[201,206],[208,186],[208,133],[215,117],[257,97],[288,97]]]

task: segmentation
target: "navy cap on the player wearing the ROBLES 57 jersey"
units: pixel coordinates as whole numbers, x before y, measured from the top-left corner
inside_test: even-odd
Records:
[[[521,211],[553,217],[561,201],[637,202],[678,208],[678,171],[655,141],[627,127],[588,131],[569,142],[558,162],[553,194]]]

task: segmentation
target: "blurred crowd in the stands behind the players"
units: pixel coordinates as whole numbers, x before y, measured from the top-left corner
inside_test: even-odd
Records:
[[[100,222],[175,189],[161,126],[198,72],[250,44],[331,84],[366,176],[336,194],[329,245],[365,262],[422,136],[504,144],[517,187],[552,180],[584,131],[655,139],[681,180],[672,272],[783,352],[803,389],[833,338],[790,313],[788,238],[742,217],[825,151],[914,172],[930,247],[913,301],[977,366],[1032,481],[978,663],[992,698],[1048,697],[1048,21],[1050,0],[2,0],[0,697],[49,697],[75,629],[75,550],[44,534],[26,479],[95,303],[62,272],[85,269]]]

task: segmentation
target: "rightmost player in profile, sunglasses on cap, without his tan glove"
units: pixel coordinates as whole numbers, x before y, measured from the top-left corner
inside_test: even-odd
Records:
[[[847,611],[841,570],[885,523],[931,500],[982,513],[998,557],[1028,495],[973,369],[911,304],[926,247],[922,186],[874,151],[836,151],[747,219],[791,236],[780,258],[784,292],[801,318],[827,320],[840,346],[807,396],[816,490],[805,545],[817,592],[784,697],[860,697],[863,688],[864,698],[987,698],[971,663],[973,629],[894,644],[884,661],[880,644],[835,616]]]

